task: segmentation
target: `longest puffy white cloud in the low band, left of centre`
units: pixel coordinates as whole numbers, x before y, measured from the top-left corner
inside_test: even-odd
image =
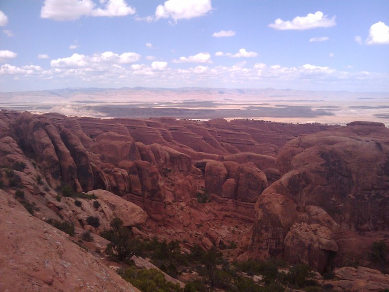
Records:
[[[104,52],[102,54],[79,55],[73,54],[70,57],[58,58],[51,60],[50,65],[52,67],[65,67],[65,68],[80,68],[80,67],[94,67],[97,66],[109,66],[110,64],[129,64],[138,61],[141,55],[137,53],[123,53],[122,55],[113,52]]]

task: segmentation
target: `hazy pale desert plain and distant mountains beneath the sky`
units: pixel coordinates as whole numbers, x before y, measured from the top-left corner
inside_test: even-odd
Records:
[[[389,124],[389,93],[211,88],[68,88],[1,92],[0,108],[91,117],[253,118]]]

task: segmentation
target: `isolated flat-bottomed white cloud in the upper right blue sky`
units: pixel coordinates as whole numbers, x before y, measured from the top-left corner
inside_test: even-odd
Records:
[[[327,18],[321,11],[315,14],[309,13],[307,16],[297,16],[293,20],[276,19],[274,23],[270,23],[269,27],[277,30],[305,30],[317,27],[332,27],[336,26],[335,16]]]

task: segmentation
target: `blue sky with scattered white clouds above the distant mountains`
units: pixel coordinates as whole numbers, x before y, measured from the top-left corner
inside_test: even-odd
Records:
[[[388,0],[0,0],[0,91],[389,91]]]

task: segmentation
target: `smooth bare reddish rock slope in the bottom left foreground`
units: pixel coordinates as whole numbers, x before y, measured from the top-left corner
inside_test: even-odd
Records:
[[[0,274],[4,292],[139,291],[2,190]]]

